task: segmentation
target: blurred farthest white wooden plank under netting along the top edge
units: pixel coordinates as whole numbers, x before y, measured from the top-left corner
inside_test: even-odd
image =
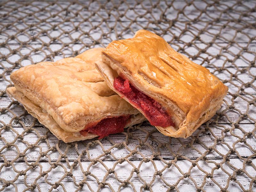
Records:
[[[155,8],[152,9],[152,4],[159,4],[158,6],[156,6]],[[104,9],[101,9],[100,6],[104,5]],[[168,5],[170,3],[167,3]],[[114,19],[116,19],[116,15],[120,15],[122,13],[124,13],[125,10],[127,10],[126,15],[128,15],[129,17],[124,17],[125,20],[134,20],[134,18],[139,17],[140,15],[145,15],[144,17],[140,18],[141,21],[147,21],[147,19],[152,19],[152,17],[155,20],[159,20],[160,16],[161,16],[161,12],[162,11],[166,11],[166,15],[170,15],[170,20],[173,19],[179,19],[180,22],[186,22],[186,21],[190,21],[193,20],[195,18],[197,18],[200,14],[201,10],[204,10],[207,6],[207,4],[205,2],[202,1],[194,1],[192,5],[187,6],[187,3],[184,1],[175,1],[172,3],[172,6],[168,8],[167,4],[165,2],[157,2],[157,1],[143,1],[140,4],[136,5],[136,2],[134,1],[126,1],[125,3],[119,4],[119,1],[112,1],[109,3],[106,3],[105,1],[98,1],[98,2],[76,2],[76,4],[70,5],[70,3],[68,2],[61,2],[61,4],[59,3],[55,3],[53,5],[51,5],[51,3],[48,2],[40,2],[40,4],[38,2],[33,2],[32,4],[29,4],[28,6],[23,6],[21,8],[19,8],[17,11],[13,11],[14,13],[19,13],[19,16],[26,16],[28,13],[31,12],[38,12],[38,8],[36,8],[35,6],[37,5],[38,7],[46,7],[44,11],[44,14],[41,13],[41,15],[38,13],[36,13],[36,16],[39,17],[42,15],[43,16],[52,16],[54,14],[59,15],[62,18],[65,17],[70,17],[70,18],[74,18],[75,21],[83,21],[79,15],[78,17],[75,16],[74,14],[76,12],[80,12],[81,15],[87,16],[89,17],[91,15],[92,10],[94,10],[97,14],[99,15],[103,15],[107,18],[107,14],[106,12],[108,12],[108,10],[111,10],[111,17],[109,18],[110,21],[113,21]],[[209,3],[208,6],[212,4]],[[204,17],[205,20],[212,20],[214,18],[220,18],[220,20],[227,20],[227,19],[238,19],[239,18],[239,14],[236,14],[232,11],[229,10],[228,13],[222,13],[222,10],[228,9],[229,7],[232,7],[234,4],[236,4],[235,1],[227,1],[227,2],[221,2],[221,6],[219,5],[218,7],[208,7],[207,8],[207,15],[203,14],[201,17]],[[10,12],[12,9],[11,8],[15,8],[15,7],[19,7],[20,3],[16,3],[16,4],[12,4],[9,3],[7,4],[8,6],[10,6],[10,8],[5,9],[5,10],[1,10],[2,14],[4,13],[8,13]],[[85,6],[85,8],[83,8],[82,6]],[[118,6],[118,11],[114,8],[113,6],[117,5]],[[245,5],[245,6],[243,6]],[[127,9],[127,7],[133,8],[134,9],[130,10]],[[186,7],[185,7],[186,6]],[[247,6],[247,7],[246,7]],[[255,4],[252,1],[243,1],[242,5],[236,5],[236,12],[239,11],[245,11],[247,8],[249,7],[254,7]],[[185,16],[180,13],[179,11],[182,10],[185,7],[184,10],[184,14]],[[68,8],[68,12],[66,11],[61,11],[62,9]],[[151,10],[151,14],[146,14],[146,11],[143,10]],[[103,14],[105,13],[105,14]],[[221,14],[222,13],[222,14]],[[183,16],[183,17],[178,17],[178,14]],[[29,19],[32,17],[29,17]],[[15,17],[10,17],[9,20],[3,20],[3,22],[12,22],[12,21],[16,21]],[[26,18],[25,18],[26,19]],[[26,22],[31,22],[31,19],[29,20],[27,19]],[[33,18],[33,19],[37,19],[37,18]],[[246,17],[244,16],[245,20],[251,21],[253,20],[253,17]],[[52,17],[52,20],[56,20],[56,17]],[[92,17],[93,21],[97,21],[94,20],[94,17]],[[204,21],[204,20],[203,20]]]

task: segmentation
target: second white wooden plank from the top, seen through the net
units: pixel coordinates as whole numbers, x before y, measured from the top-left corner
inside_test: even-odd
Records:
[[[230,41],[235,41],[238,43],[248,43],[253,42],[253,39],[250,38],[254,37],[255,30],[252,27],[245,27],[246,24],[243,23],[236,23],[230,21],[219,21],[218,23],[214,23],[213,25],[207,25],[207,22],[195,22],[190,24],[188,21],[186,22],[176,22],[174,26],[170,27],[169,22],[161,22],[156,24],[151,20],[147,21],[136,21],[136,26],[132,21],[125,21],[125,20],[115,20],[115,21],[103,21],[100,17],[97,17],[98,21],[91,21],[90,19],[87,22],[70,22],[67,21],[63,23],[63,19],[56,20],[54,22],[45,22],[44,26],[41,26],[41,22],[39,22],[39,26],[34,24],[37,27],[29,28],[29,23],[19,23],[15,26],[9,26],[6,28],[7,25],[0,24],[0,29],[2,28],[2,32],[0,34],[0,42],[5,42],[8,36],[17,35],[13,40],[19,40],[20,42],[28,42],[29,44],[39,44],[38,40],[43,40],[45,43],[49,42],[50,37],[60,37],[60,39],[56,39],[55,43],[70,43],[70,38],[77,38],[77,37],[93,37],[94,39],[100,39],[100,36],[103,36],[104,39],[119,38],[119,36],[123,36],[124,38],[130,38],[132,35],[139,29],[148,29],[154,30],[160,35],[163,35],[167,41],[184,41],[184,42],[194,42],[194,43],[201,43],[202,42],[211,42],[212,40],[214,43],[230,43]],[[101,21],[100,21],[101,20]],[[35,23],[35,21],[34,21]],[[226,25],[226,28],[223,28],[223,25]],[[55,29],[52,29],[53,26],[56,26]],[[76,29],[76,26],[79,28]],[[105,32],[106,30],[111,30],[112,27],[115,27],[115,33]],[[127,29],[126,29],[127,28]],[[23,30],[21,33],[19,30]],[[124,30],[126,29],[126,30]],[[42,31],[45,31],[42,33]],[[164,31],[164,32],[163,32]],[[237,32],[239,31],[239,32]],[[68,33],[65,33],[68,32]],[[218,37],[216,37],[216,35]],[[173,36],[177,38],[173,38]],[[200,38],[195,38],[199,35]],[[29,36],[36,37],[35,40],[29,40]],[[172,38],[170,38],[171,36]],[[65,38],[63,38],[65,37]],[[214,38],[215,37],[215,38]],[[29,41],[28,41],[29,40]],[[18,41],[8,40],[7,43],[10,44],[19,44]],[[54,42],[53,42],[54,43]],[[78,41],[79,43],[79,41]]]

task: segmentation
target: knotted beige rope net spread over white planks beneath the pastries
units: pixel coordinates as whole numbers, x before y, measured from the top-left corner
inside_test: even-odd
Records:
[[[0,4],[0,191],[256,191],[255,1],[4,1]],[[147,122],[65,144],[10,99],[10,73],[147,29],[229,87],[187,139]]]

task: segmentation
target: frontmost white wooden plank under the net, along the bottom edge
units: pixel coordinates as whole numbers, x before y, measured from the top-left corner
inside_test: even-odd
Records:
[[[138,167],[140,162],[141,161],[132,161],[131,163],[135,167]],[[217,160],[215,162],[219,163],[220,161]],[[154,163],[156,165],[157,170],[161,170],[165,166],[165,164],[162,163],[161,161],[154,161]],[[242,168],[241,162],[239,159],[235,159],[234,161],[232,161],[230,163],[237,168]],[[90,164],[89,162],[82,162],[81,166],[86,171],[89,164]],[[104,164],[107,165],[109,168],[111,168],[111,167],[113,167],[114,162],[104,162]],[[50,165],[48,162],[47,163],[41,162],[40,165],[42,166],[43,171],[49,170]],[[188,172],[188,167],[191,166],[191,164],[189,164],[186,160],[179,160],[177,162],[177,165],[180,167],[181,171],[184,174],[186,172]],[[67,165],[64,164],[64,166],[66,167]],[[208,163],[208,164],[205,163],[204,164],[203,162],[202,162],[202,164],[199,163],[199,166],[201,168],[207,170],[207,172],[209,172],[209,173],[211,172],[212,168],[215,167],[215,165],[213,163]],[[18,170],[25,170],[28,168],[28,166],[26,166],[24,163],[18,162],[18,163],[15,163],[15,168]],[[118,164],[115,168],[116,176],[121,181],[124,181],[128,178],[132,169],[133,169],[133,167],[126,162],[123,164]],[[233,174],[233,169],[231,169],[230,166],[228,166],[228,164],[226,164],[226,163],[223,165],[222,169],[226,170],[231,175]],[[67,170],[69,171],[69,169],[67,169]],[[92,172],[92,174],[94,174],[99,179],[99,182],[102,182],[104,176],[107,174],[107,170],[100,163],[92,165],[90,171]],[[3,174],[3,172],[5,172],[6,174]],[[27,178],[26,178],[26,182],[28,185],[31,185],[35,181],[35,178],[38,178],[39,172],[40,172],[39,167],[36,167],[35,169],[28,171]],[[150,181],[152,181],[152,177],[155,172],[156,172],[156,170],[154,170],[151,162],[142,163],[142,165],[140,167],[139,175],[140,175],[140,177],[142,177],[144,179],[145,182],[150,183]],[[76,168],[72,171],[72,173],[73,173],[74,178],[76,179],[76,183],[79,184],[79,182],[84,179],[83,174],[78,166],[76,166]],[[253,176],[253,175],[255,175],[255,170],[248,169],[247,173]],[[63,175],[64,175],[63,169],[60,166],[58,166],[57,168],[52,169],[52,171],[45,177],[39,178],[36,181],[36,183],[39,184],[41,191],[47,191],[50,189],[51,186],[45,183],[45,179],[47,179],[48,182],[51,182],[53,185],[55,182],[58,182]],[[193,167],[190,175],[195,180],[196,184],[199,187],[202,185],[204,177],[206,177],[206,174],[204,172],[201,172],[198,169],[198,167]],[[12,170],[12,167],[10,167],[10,168],[4,167],[2,172],[0,173],[0,177],[4,178],[6,180],[12,180],[15,176],[16,176],[16,174]],[[168,185],[172,185],[172,184],[175,184],[177,182],[177,180],[179,180],[181,177],[182,177],[182,174],[179,172],[179,170],[175,166],[172,165],[170,168],[165,168],[165,171],[163,172],[162,179],[164,179],[168,183]],[[212,180],[219,183],[220,186],[224,188],[226,185],[226,182],[228,180],[228,177],[229,177],[228,174],[222,172],[219,169],[219,170],[214,171]],[[158,175],[156,175],[156,179],[154,180],[153,187],[152,187],[153,191],[158,191],[158,190],[166,191],[169,188],[168,186],[166,186],[164,184],[162,179]],[[250,184],[251,179],[249,179],[245,174],[242,173],[242,174],[236,175],[236,179],[237,179],[236,181],[241,183],[245,189],[249,189],[249,184]],[[204,185],[205,191],[219,191],[220,190],[220,188],[216,184],[214,184],[214,182],[212,180],[206,179],[206,184]],[[89,175],[89,176],[87,176],[86,181],[88,182],[88,184],[91,186],[91,188],[93,190],[96,191],[98,189],[99,184],[97,183],[95,178],[93,178],[92,176]],[[138,174],[136,174],[135,172],[132,174],[132,178],[130,181],[133,183],[136,191],[140,191],[140,187],[144,184],[139,179]],[[111,185],[111,187],[114,189],[114,191],[117,191],[119,185],[121,185],[121,183],[116,180],[114,174],[108,175],[105,182],[109,183]],[[62,183],[64,184],[66,190],[68,190],[68,191],[75,191],[75,189],[77,189],[75,187],[75,185],[73,184],[73,179],[71,177],[66,177],[62,181]],[[24,185],[24,176],[20,176],[15,181],[15,184],[17,185],[17,187],[19,189],[26,188]],[[180,191],[186,191],[186,190],[191,191],[192,188],[193,188],[193,190],[196,190],[194,183],[192,182],[192,180],[190,180],[190,178],[186,178],[186,179],[183,178],[183,180],[180,181],[180,183],[178,184],[177,187]],[[6,189],[8,189],[10,191],[10,189],[12,189],[12,186],[10,186]],[[128,184],[128,186],[126,186],[122,189],[124,191],[133,191],[132,186],[129,184]],[[254,191],[255,189],[256,189],[256,187],[255,187],[255,185],[253,185],[252,191]],[[57,190],[63,191],[61,186],[58,187]],[[85,190],[85,191],[88,190],[86,185],[84,185],[83,190]],[[241,191],[241,188],[234,181],[231,181],[229,184],[228,190],[238,192],[238,191]],[[103,188],[102,191],[109,191],[108,186],[105,186],[105,188]]]

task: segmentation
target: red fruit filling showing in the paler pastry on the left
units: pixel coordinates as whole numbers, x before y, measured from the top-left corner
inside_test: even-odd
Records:
[[[130,116],[119,116],[102,119],[98,124],[80,131],[80,134],[86,136],[87,133],[92,133],[99,135],[99,139],[102,139],[110,134],[121,133],[129,118]]]

